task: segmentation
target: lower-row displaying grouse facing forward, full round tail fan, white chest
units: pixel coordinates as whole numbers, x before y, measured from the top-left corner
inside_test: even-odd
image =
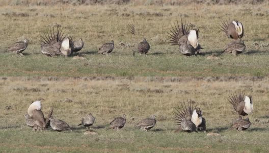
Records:
[[[200,108],[194,105],[195,101],[187,100],[180,103],[181,107],[177,107],[174,112],[175,122],[180,125],[177,131],[196,132],[206,130],[206,121],[202,117],[202,111]]]

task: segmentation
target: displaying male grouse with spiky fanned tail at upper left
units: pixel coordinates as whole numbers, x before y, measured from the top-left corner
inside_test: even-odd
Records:
[[[71,54],[71,47],[69,39],[65,39],[63,28],[60,25],[57,25],[57,29],[53,27],[53,29],[49,28],[49,32],[47,31],[41,36],[41,53],[52,57],[57,55],[65,55],[69,56]]]

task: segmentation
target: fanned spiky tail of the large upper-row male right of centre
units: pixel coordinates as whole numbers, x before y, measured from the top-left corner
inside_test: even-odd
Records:
[[[168,41],[171,45],[179,45],[180,46],[180,43],[178,42],[179,39],[184,36],[184,35],[187,35],[189,34],[190,32],[190,29],[191,29],[191,25],[188,23],[186,23],[186,20],[184,19],[180,19],[180,24],[177,21],[174,22],[174,25],[171,26],[171,28],[169,29],[169,32],[168,32]]]

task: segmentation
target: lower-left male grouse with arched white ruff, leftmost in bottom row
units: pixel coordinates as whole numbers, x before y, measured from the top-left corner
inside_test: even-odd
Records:
[[[35,123],[38,125],[38,130],[45,130],[46,122],[45,122],[43,112],[41,111],[41,100],[44,100],[44,99],[40,98],[37,101],[34,101],[29,106],[27,112],[29,116],[35,120]]]

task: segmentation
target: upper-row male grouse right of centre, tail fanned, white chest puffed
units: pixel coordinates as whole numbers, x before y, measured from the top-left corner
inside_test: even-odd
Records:
[[[168,32],[168,41],[171,45],[178,45],[183,55],[192,56],[200,54],[203,49],[199,44],[199,30],[191,29],[192,25],[181,19],[180,25],[178,21],[174,22]]]

